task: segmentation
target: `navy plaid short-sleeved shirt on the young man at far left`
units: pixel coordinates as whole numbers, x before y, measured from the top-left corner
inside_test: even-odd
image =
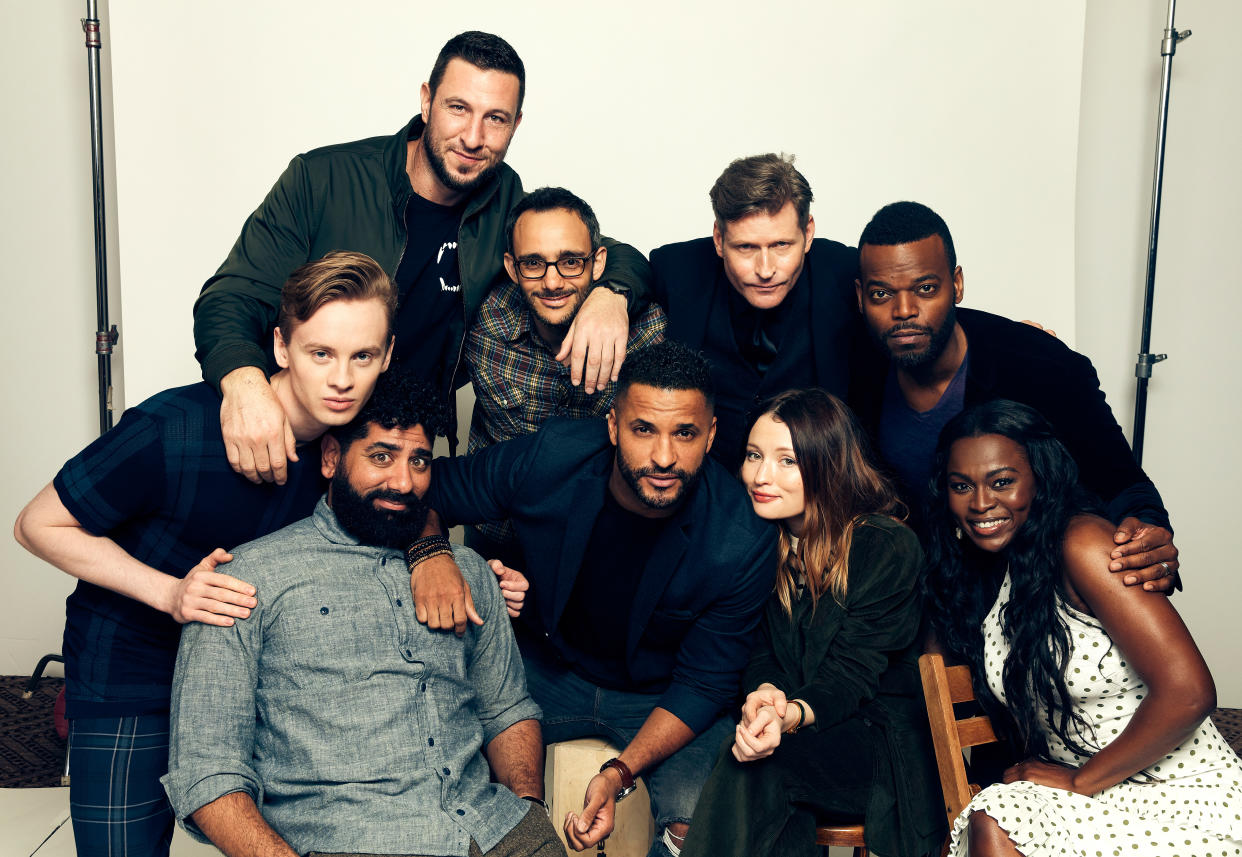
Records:
[[[87,532],[183,578],[215,548],[250,542],[314,509],[323,493],[319,443],[298,457],[284,486],[235,473],[220,433],[220,396],[200,383],[127,410],[61,468],[53,486]],[[262,602],[263,594],[257,597]],[[66,600],[68,717],[166,712],[180,637],[168,614],[79,580]]]

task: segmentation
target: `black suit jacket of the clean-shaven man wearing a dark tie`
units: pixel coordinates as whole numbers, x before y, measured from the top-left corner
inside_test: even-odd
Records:
[[[668,315],[669,339],[703,350],[707,347],[708,319],[713,306],[724,307],[728,289],[733,288],[724,276],[724,263],[715,253],[710,237],[664,245],[651,252],[652,298],[664,307]],[[854,278],[858,274],[858,251],[827,238],[815,238],[806,257],[806,272],[811,287],[810,353],[780,353],[769,369],[760,392],[744,389],[743,381],[725,370],[722,355],[704,351],[713,363],[717,396],[734,400],[735,407],[727,409],[743,419],[748,410],[769,395],[784,392],[791,384],[781,378],[782,366],[810,363],[814,380],[830,392],[845,397],[850,380],[850,353],[858,315],[854,298]],[[743,401],[745,399],[746,401]],[[745,406],[743,406],[745,405]],[[717,412],[717,420],[730,419]],[[732,457],[733,445],[719,438],[743,437],[746,426],[720,425],[715,455],[727,467],[738,462]],[[723,457],[722,457],[723,456]]]

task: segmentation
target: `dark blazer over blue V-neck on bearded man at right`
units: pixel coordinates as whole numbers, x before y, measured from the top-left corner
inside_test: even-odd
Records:
[[[1130,451],[1099,389],[1090,360],[1038,328],[958,308],[966,333],[965,406],[1010,399],[1040,411],[1078,462],[1079,481],[1108,506],[1114,523],[1134,515],[1169,528],[1160,492]],[[871,347],[853,359],[850,404],[878,436],[887,355]]]

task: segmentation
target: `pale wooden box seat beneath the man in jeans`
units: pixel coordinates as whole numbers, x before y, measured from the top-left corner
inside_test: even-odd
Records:
[[[619,750],[601,738],[578,738],[571,741],[548,745],[544,763],[544,791],[551,810],[551,823],[565,841],[565,814],[582,810],[586,784],[600,773],[600,765]],[[651,817],[651,799],[647,786],[640,779],[633,794],[617,804],[616,825],[601,843],[607,857],[645,857],[656,835],[656,822]],[[566,850],[569,843],[565,842]],[[576,853],[570,851],[570,853]],[[585,852],[592,853],[592,852]]]

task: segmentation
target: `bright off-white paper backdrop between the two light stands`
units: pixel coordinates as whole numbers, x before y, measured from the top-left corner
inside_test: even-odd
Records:
[[[1072,335],[1081,0],[440,9],[112,5],[129,401],[197,376],[193,301],[288,159],[395,133],[467,29],[527,63],[509,163],[528,189],[584,196],[609,235],[642,251],[705,235],[729,160],[789,152],[820,235],[854,243],[881,205],[925,201],[955,232],[969,304]],[[1033,258],[1067,276],[1013,263]]]

